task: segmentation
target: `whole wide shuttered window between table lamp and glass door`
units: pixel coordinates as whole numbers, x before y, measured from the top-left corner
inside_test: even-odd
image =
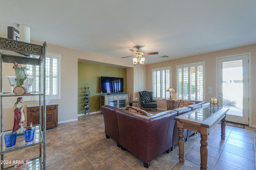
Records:
[[[176,66],[179,99],[205,100],[205,62]]]

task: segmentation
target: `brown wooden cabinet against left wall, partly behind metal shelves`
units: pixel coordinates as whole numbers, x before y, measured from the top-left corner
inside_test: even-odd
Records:
[[[43,107],[41,106],[41,114],[43,113]],[[26,123],[32,122],[33,125],[39,124],[39,106],[28,105],[27,106],[27,119]],[[43,124],[43,116],[41,116],[41,122]],[[42,126],[43,127],[43,126]],[[58,104],[46,105],[46,129],[58,127]]]

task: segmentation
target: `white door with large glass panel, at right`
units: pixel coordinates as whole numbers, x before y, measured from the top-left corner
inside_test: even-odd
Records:
[[[219,106],[229,109],[226,120],[249,124],[248,55],[218,59]]]

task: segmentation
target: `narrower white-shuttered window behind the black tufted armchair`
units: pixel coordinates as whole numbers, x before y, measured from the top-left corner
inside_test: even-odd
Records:
[[[154,99],[169,98],[170,92],[166,92],[170,88],[171,67],[152,69],[152,91]]]

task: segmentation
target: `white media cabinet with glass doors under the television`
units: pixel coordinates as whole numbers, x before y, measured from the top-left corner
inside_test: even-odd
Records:
[[[126,108],[129,106],[130,94],[111,94],[111,95],[100,95],[100,111],[101,106],[109,105],[118,108]]]

